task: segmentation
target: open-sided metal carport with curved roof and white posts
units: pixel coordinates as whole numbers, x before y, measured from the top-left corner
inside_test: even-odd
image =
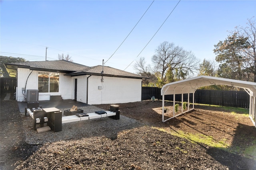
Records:
[[[250,96],[250,107],[249,107],[249,117],[252,120],[254,126],[255,119],[256,119],[256,83],[255,82],[247,82],[247,81],[241,81],[241,80],[233,80],[228,78],[219,78],[219,77],[211,77],[211,76],[197,76],[194,78],[188,78],[186,80],[180,80],[177,82],[172,82],[165,84],[161,89],[161,95],[163,97],[162,99],[162,121],[165,122],[169,119],[172,119],[174,117],[177,117],[183,113],[186,113],[188,111],[191,111],[194,109],[194,93],[195,91],[203,86],[210,86],[210,85],[227,85],[227,86],[233,86],[238,88],[243,88]],[[175,94],[182,94],[182,104],[183,104],[183,94],[193,94],[193,107],[190,109],[190,103],[189,103],[189,95],[188,95],[188,110],[183,111],[182,113],[175,115],[175,110],[173,109],[173,117],[170,117],[166,120],[164,120],[164,96],[173,94],[173,106],[175,106]],[[173,107],[174,108],[174,107]]]

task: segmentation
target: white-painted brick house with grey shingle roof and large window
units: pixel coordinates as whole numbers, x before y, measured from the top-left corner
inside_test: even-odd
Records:
[[[87,104],[114,104],[141,101],[145,78],[108,66],[88,67],[65,60],[4,64],[17,78],[16,100],[25,102],[27,90],[39,90],[39,101],[50,96]]]

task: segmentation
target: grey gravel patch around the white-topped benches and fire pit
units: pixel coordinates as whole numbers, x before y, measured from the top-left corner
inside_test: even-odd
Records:
[[[94,113],[94,111],[102,110],[95,106],[79,107],[79,109],[83,109],[84,113]],[[63,111],[66,109],[60,110]],[[117,138],[118,132],[132,127],[138,127],[140,125],[141,123],[135,119],[120,115],[119,120],[104,117],[100,119],[64,123],[62,124],[62,131],[60,132],[46,131],[38,133],[33,130],[32,118],[30,116],[25,117],[24,114],[22,114],[22,126],[25,134],[25,142],[29,145],[39,145],[74,138],[77,139],[103,135],[114,140]]]

